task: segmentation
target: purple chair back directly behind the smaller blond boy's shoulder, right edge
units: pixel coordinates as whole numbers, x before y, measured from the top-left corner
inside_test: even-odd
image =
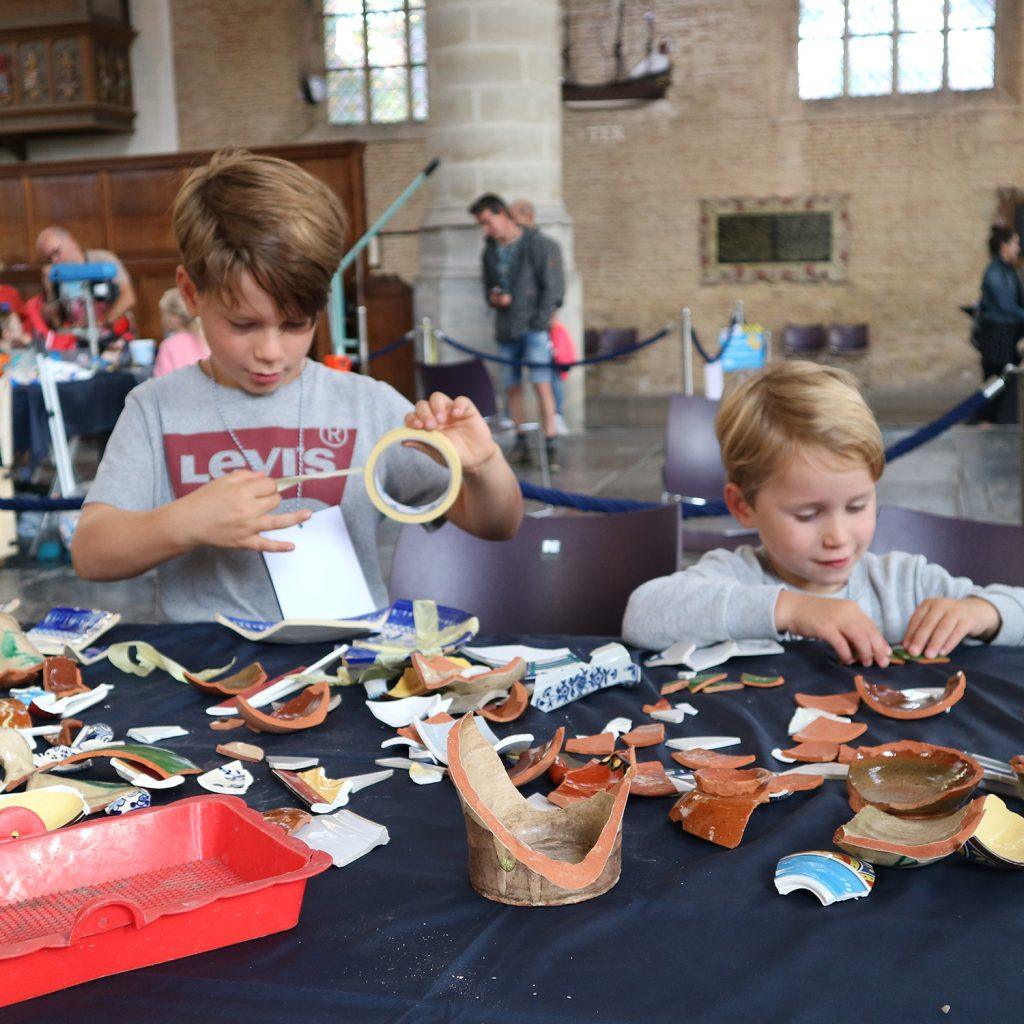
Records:
[[[977,584],[1024,587],[1024,526],[953,519],[883,505],[871,551],[924,555],[953,575]]]

